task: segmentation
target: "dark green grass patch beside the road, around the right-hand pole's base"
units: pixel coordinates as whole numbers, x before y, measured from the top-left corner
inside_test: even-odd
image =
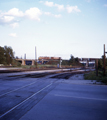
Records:
[[[84,78],[86,80],[97,80],[105,83],[107,85],[107,71],[106,76],[103,76],[102,71],[98,71],[98,76],[96,76],[96,71],[92,71],[90,73],[84,74]]]

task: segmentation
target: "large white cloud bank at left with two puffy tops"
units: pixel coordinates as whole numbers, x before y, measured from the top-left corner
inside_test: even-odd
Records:
[[[19,18],[28,18],[31,20],[40,21],[40,15],[42,12],[34,7],[26,10],[25,12],[20,11],[18,8],[12,8],[7,12],[0,11],[0,24],[1,25],[10,25],[15,28],[18,27]]]

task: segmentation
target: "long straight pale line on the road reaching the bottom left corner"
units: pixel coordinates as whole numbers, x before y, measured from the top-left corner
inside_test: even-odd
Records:
[[[43,91],[44,89],[48,88],[49,86],[51,86],[51,84],[47,85],[46,87],[42,88],[41,90],[39,90],[38,92],[34,93],[33,95],[31,95],[30,97],[28,97],[27,99],[25,99],[24,101],[22,101],[21,103],[17,104],[16,106],[14,106],[13,108],[11,108],[10,110],[8,110],[7,112],[5,112],[4,114],[2,114],[0,116],[0,118],[2,118],[3,116],[5,116],[6,114],[8,114],[9,112],[11,112],[12,110],[14,110],[15,108],[17,108],[18,106],[20,106],[21,104],[23,104],[24,102],[26,102],[27,100],[29,100],[30,98],[32,98],[33,96],[35,96],[36,94],[40,93],[41,91]]]

